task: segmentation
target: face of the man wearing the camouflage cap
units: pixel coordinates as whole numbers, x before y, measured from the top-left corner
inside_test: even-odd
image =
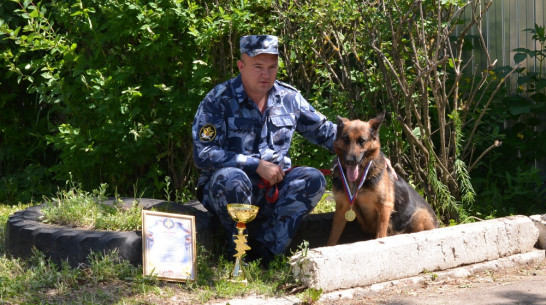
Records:
[[[277,79],[278,56],[259,54],[250,57],[243,54],[241,60],[237,61],[237,67],[241,72],[243,86],[249,96],[266,94]]]

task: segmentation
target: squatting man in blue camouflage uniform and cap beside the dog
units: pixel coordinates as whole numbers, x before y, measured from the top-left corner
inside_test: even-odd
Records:
[[[234,234],[227,204],[259,206],[257,218],[248,224],[249,257],[266,264],[284,253],[326,187],[318,169],[291,169],[294,131],[333,152],[337,130],[296,89],[276,80],[277,44],[275,36],[242,37],[240,74],[207,94],[192,128],[195,164],[201,170],[199,200]],[[275,188],[278,196],[272,194]]]

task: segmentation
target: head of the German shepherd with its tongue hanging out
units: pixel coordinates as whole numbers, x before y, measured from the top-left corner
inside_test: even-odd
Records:
[[[361,165],[367,164],[381,149],[379,127],[385,119],[385,111],[367,122],[340,116],[337,119],[334,150],[345,168],[347,179],[355,181]]]

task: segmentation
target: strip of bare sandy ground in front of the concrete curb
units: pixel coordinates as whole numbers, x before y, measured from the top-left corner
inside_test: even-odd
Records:
[[[319,301],[318,304],[544,304],[546,305],[546,260],[484,271],[464,278],[431,279],[400,284],[378,291],[355,290],[351,298]]]

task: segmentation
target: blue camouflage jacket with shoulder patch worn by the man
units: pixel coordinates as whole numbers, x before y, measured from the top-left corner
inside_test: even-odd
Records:
[[[262,114],[239,75],[212,89],[197,109],[192,137],[195,165],[201,170],[198,185],[224,167],[254,174],[260,159],[289,169],[294,131],[333,152],[336,130],[295,88],[280,81],[271,88]]]

